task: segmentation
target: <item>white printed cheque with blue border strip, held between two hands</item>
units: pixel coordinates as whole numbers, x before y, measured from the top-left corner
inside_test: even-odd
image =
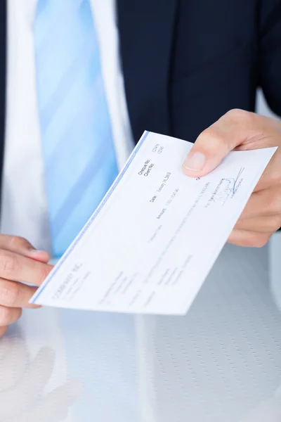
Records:
[[[31,302],[185,314],[276,151],[232,152],[192,179],[181,170],[191,147],[145,132]]]

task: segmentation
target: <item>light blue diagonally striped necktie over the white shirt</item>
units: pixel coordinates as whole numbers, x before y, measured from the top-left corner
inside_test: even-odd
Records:
[[[89,0],[38,0],[34,22],[41,142],[53,256],[117,176]]]

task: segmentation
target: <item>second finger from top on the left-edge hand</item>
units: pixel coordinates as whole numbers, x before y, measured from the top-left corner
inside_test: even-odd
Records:
[[[0,277],[2,279],[40,286],[51,269],[51,265],[43,262],[37,262],[7,250],[0,250]]]

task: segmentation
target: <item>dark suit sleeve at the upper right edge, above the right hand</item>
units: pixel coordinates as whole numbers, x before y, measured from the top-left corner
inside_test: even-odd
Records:
[[[281,116],[281,0],[259,4],[259,86],[268,106]]]

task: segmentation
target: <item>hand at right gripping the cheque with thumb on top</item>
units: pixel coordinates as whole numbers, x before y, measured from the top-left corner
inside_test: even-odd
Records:
[[[204,130],[183,163],[183,172],[202,177],[233,149],[246,151],[281,146],[281,123],[243,110],[231,110]],[[281,226],[281,148],[270,160],[252,193],[229,243],[261,247]]]

